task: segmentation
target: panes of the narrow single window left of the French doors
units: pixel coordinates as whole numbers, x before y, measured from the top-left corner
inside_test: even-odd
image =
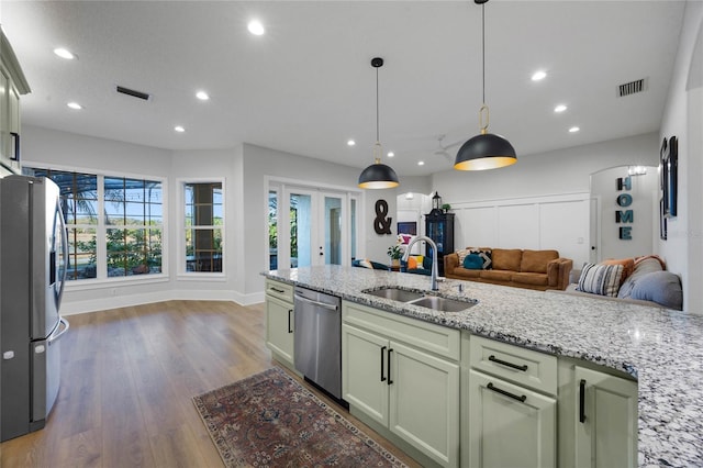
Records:
[[[183,185],[186,271],[222,272],[222,182]]]

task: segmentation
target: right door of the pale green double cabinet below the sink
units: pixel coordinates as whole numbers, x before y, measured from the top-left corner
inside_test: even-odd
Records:
[[[442,466],[459,461],[459,366],[391,341],[390,425]]]

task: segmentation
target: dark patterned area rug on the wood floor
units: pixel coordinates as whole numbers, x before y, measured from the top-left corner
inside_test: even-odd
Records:
[[[404,467],[279,368],[193,398],[227,467]]]

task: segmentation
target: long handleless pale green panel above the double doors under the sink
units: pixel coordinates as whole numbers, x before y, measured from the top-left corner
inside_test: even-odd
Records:
[[[342,303],[342,320],[453,360],[460,358],[461,333],[458,330],[347,301]]]

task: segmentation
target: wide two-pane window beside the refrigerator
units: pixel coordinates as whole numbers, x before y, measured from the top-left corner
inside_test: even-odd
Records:
[[[161,272],[160,181],[27,167],[23,172],[47,177],[60,189],[67,279]]]

